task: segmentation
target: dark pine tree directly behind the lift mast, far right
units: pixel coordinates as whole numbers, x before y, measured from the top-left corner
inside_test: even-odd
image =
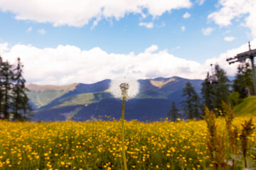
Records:
[[[238,73],[233,81],[233,91],[237,91],[240,98],[255,94],[253,91],[252,69],[250,69],[249,63],[243,62],[238,66]]]

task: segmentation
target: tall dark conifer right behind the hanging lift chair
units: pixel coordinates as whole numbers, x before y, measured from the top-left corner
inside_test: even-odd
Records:
[[[215,65],[215,76],[218,78],[218,84],[213,87],[215,94],[214,108],[221,109],[222,102],[228,101],[230,84],[228,77],[226,77],[225,71],[221,69],[218,64]]]

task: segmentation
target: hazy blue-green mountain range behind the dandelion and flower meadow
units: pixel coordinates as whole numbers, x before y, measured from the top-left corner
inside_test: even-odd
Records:
[[[182,89],[190,82],[200,96],[200,79],[181,77],[140,79],[139,94],[125,103],[125,119],[155,121],[166,118],[172,102],[181,110]],[[110,79],[95,84],[66,86],[28,84],[28,98],[34,108],[33,121],[95,120],[121,118],[122,101],[110,94]],[[106,115],[106,116],[105,116]]]

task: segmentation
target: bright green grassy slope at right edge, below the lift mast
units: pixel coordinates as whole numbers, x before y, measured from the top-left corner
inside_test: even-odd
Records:
[[[242,103],[235,106],[235,113],[238,115],[256,115],[256,96],[243,99]]]

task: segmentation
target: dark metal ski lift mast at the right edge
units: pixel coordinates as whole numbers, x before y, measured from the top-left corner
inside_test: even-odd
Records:
[[[254,64],[254,57],[256,56],[256,49],[251,50],[250,49],[250,41],[249,43],[249,51],[247,52],[242,52],[235,57],[231,57],[227,59],[227,62],[229,64],[233,64],[235,62],[242,62],[245,61],[246,59],[250,59],[252,62],[252,77],[253,77],[253,85],[254,85],[254,91],[256,94],[256,72],[255,72],[255,64]]]

